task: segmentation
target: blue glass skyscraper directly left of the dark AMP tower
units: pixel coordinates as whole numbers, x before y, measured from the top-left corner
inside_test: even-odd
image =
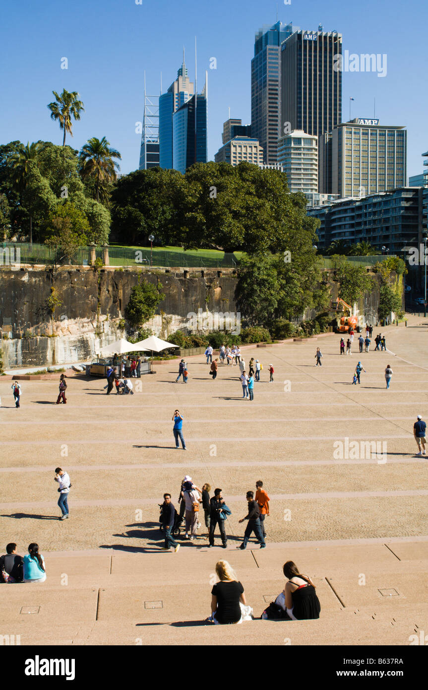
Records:
[[[292,35],[292,24],[265,25],[256,33],[251,61],[251,135],[260,141],[264,162],[276,163],[280,121],[281,43]],[[301,129],[294,126],[292,129]]]

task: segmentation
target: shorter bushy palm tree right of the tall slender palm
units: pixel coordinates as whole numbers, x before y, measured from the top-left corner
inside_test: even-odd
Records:
[[[92,137],[82,146],[79,154],[80,174],[83,179],[93,179],[96,190],[96,201],[99,201],[103,182],[116,179],[116,170],[120,170],[114,158],[122,159],[119,151],[109,148],[110,141],[105,137],[101,140]]]

